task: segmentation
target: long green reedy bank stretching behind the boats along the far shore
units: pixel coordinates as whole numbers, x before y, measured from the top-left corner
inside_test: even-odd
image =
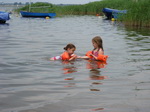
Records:
[[[103,0],[91,2],[84,5],[68,5],[57,6],[48,3],[35,3],[32,7],[48,6],[49,8],[32,9],[32,12],[56,12],[57,16],[62,15],[102,15],[104,7],[127,10],[128,13],[118,20],[122,20],[125,25],[137,27],[150,27],[150,0]],[[29,6],[25,6],[20,10],[28,11]]]

